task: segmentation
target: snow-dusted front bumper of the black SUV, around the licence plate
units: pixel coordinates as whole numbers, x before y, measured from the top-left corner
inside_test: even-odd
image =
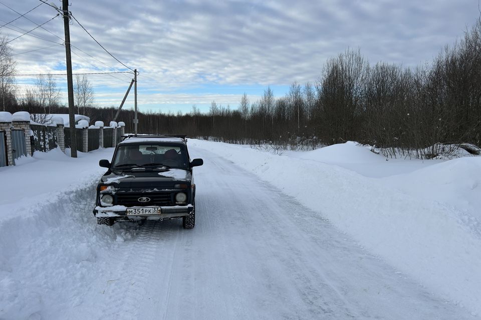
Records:
[[[172,205],[172,206],[155,206],[160,208],[161,213],[158,214],[138,214],[127,215],[127,207],[123,205],[114,206],[96,206],[93,210],[96,217],[110,217],[115,220],[138,220],[138,219],[171,219],[189,215],[194,210],[192,204],[187,205]],[[130,207],[129,207],[130,208]]]

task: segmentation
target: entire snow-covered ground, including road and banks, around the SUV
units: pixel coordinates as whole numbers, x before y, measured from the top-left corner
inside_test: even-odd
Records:
[[[0,319],[481,315],[481,157],[189,140],[197,220],[97,225],[112,148],[0,168]]]

